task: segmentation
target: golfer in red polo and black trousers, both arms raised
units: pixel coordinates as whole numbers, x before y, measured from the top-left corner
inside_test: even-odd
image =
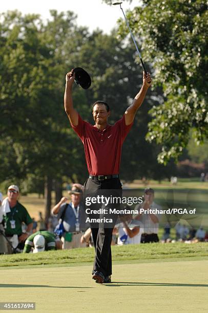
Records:
[[[118,176],[121,148],[132,127],[136,112],[151,85],[151,75],[148,73],[145,77],[143,73],[143,84],[140,92],[127,108],[123,117],[114,125],[108,124],[110,108],[105,101],[96,101],[93,104],[92,114],[95,125],[81,119],[73,107],[72,86],[74,79],[75,73],[72,70],[66,75],[64,103],[71,126],[84,144],[89,171],[89,178],[84,185],[85,189],[93,190],[93,192],[99,190],[115,192],[117,190],[118,195],[121,195],[122,186]],[[104,224],[104,226],[97,225],[94,227],[91,225],[96,254],[92,274],[97,283],[111,282],[111,239],[115,221],[114,217],[110,226]]]

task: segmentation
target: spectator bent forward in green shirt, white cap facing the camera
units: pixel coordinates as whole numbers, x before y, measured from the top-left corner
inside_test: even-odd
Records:
[[[34,248],[33,253],[59,250],[62,249],[62,242],[59,237],[48,231],[38,231],[27,238],[23,253],[29,253],[32,248]]]

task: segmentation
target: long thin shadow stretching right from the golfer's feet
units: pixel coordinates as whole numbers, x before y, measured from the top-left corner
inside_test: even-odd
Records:
[[[166,287],[208,287],[206,284],[177,284],[177,283],[151,283],[151,282],[132,282],[132,281],[113,281],[110,284],[104,284],[110,287],[121,286],[166,286]]]

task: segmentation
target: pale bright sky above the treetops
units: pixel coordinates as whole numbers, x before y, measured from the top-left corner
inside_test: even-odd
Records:
[[[112,0],[112,3],[117,0]],[[131,5],[123,2],[122,8],[126,12],[138,6],[139,0],[133,0]],[[120,6],[109,6],[102,0],[6,0],[1,1],[0,12],[15,10],[27,13],[39,13],[44,19],[50,17],[49,10],[73,11],[77,14],[77,25],[89,27],[90,32],[96,28],[110,33],[116,26],[118,18],[123,17]]]

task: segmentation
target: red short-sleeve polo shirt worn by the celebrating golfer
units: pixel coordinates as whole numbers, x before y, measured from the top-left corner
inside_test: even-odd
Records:
[[[85,148],[85,157],[89,174],[118,174],[121,149],[133,123],[126,125],[125,117],[113,126],[107,125],[102,131],[96,125],[83,121],[79,116],[78,125],[72,128],[77,133]]]

